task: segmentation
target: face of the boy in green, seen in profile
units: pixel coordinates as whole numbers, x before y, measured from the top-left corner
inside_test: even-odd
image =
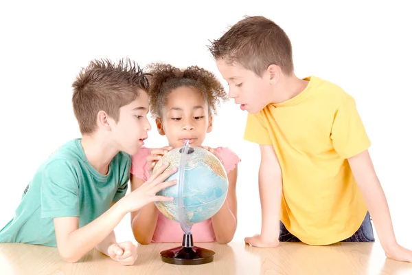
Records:
[[[147,114],[148,94],[140,91],[139,96],[119,110],[119,121],[112,127],[113,140],[119,151],[135,155],[148,137],[151,126]]]

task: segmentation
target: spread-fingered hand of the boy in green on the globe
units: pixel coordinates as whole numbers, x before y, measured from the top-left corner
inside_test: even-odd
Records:
[[[177,167],[174,167],[164,172],[164,170],[168,168],[168,166],[168,163],[163,164],[155,173],[153,173],[153,175],[149,177],[149,179],[144,184],[141,184],[139,188],[137,188],[133,192],[130,192],[129,195],[126,195],[126,197],[121,199],[122,206],[124,207],[126,212],[134,212],[151,202],[173,200],[173,197],[156,195],[156,193],[160,190],[177,184],[176,180],[165,181],[165,179],[167,179],[177,171]]]

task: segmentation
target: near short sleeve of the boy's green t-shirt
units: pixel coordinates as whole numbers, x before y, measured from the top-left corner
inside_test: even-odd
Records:
[[[41,183],[41,217],[79,217],[78,194],[76,163],[65,159],[49,162]]]

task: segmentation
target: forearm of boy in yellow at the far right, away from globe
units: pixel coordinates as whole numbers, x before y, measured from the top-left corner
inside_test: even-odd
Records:
[[[387,250],[391,245],[396,244],[396,238],[393,232],[387,199],[382,186],[380,186],[379,179],[376,175],[363,178],[361,182],[358,182],[358,185],[371,218],[374,220],[376,233],[378,233],[382,248]]]

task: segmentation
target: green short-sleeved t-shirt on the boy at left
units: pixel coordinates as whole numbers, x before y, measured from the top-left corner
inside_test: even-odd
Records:
[[[14,218],[0,230],[0,243],[56,246],[53,218],[79,217],[79,227],[98,218],[126,195],[130,165],[130,155],[120,152],[102,175],[87,161],[80,139],[67,142],[37,170]]]

